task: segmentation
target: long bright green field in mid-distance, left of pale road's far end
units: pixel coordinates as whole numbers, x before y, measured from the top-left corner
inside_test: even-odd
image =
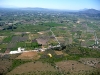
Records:
[[[49,30],[50,27],[56,27],[56,26],[62,26],[62,24],[53,23],[53,22],[43,23],[43,25],[18,24],[17,29],[15,29],[13,31],[15,31],[15,32],[33,32],[33,33],[36,33],[36,32],[39,32],[39,31]]]

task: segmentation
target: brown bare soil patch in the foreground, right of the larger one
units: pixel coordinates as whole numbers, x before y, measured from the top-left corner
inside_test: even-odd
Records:
[[[72,61],[72,60],[57,62],[56,65],[62,71],[70,72],[71,74],[84,73],[85,71],[93,70],[93,67],[90,67],[90,66],[84,65],[80,62]]]

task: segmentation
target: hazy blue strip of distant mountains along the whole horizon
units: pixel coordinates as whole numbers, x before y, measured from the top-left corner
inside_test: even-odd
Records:
[[[67,12],[80,12],[80,13],[92,13],[92,14],[98,14],[100,13],[100,10],[96,9],[80,9],[80,10],[60,10],[60,9],[48,9],[48,8],[40,8],[40,7],[27,7],[27,8],[0,8],[0,9],[21,9],[21,10],[34,10],[34,11],[67,11]]]

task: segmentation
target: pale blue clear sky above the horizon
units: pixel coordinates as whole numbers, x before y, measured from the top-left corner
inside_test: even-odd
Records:
[[[100,0],[0,0],[0,7],[80,10],[84,8],[100,10]]]

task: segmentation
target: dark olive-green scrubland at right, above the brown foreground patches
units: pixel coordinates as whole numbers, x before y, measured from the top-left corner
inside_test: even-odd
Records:
[[[99,58],[100,57],[100,51],[90,48],[84,48],[84,47],[77,47],[77,46],[67,46],[65,52],[68,54],[66,58],[68,60],[78,60],[81,57],[86,58]]]

